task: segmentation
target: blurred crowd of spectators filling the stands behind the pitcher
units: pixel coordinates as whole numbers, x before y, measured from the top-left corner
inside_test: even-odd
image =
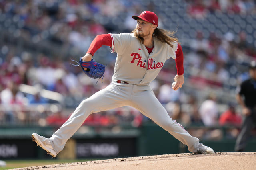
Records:
[[[186,6],[190,20],[216,11],[241,15],[256,11],[253,0],[175,2]],[[143,10],[155,11],[162,22],[160,26],[170,29],[165,23],[168,14],[159,8],[166,1],[156,3],[154,0],[0,0],[0,123],[62,125],[81,100],[110,84],[115,54],[105,47],[95,53],[97,61],[107,64],[103,80],[88,78],[80,67],[70,64],[71,59],[82,57],[98,34],[132,31],[136,22],[131,16]],[[180,26],[177,33],[179,29],[184,30]],[[198,93],[189,85],[178,91],[171,89],[172,77],[176,74],[175,62],[171,59],[166,61],[151,86],[170,117],[184,126],[239,127],[241,117],[234,100],[224,101],[207,89],[234,92],[236,86],[248,78],[247,64],[256,59],[255,45],[248,43],[248,33],[244,30],[222,35],[210,31],[209,36],[197,30],[194,34],[194,39],[181,38],[180,42],[184,51],[185,84],[196,84]],[[36,87],[36,92],[25,92],[21,84]],[[62,94],[63,100],[43,97],[42,90]],[[202,96],[199,91],[205,94]],[[60,106],[49,109],[55,108],[55,104]],[[222,104],[225,106],[219,109]],[[19,109],[10,109],[14,106]],[[34,106],[37,109],[30,109]],[[63,113],[66,108],[70,111]],[[122,107],[92,114],[85,124],[132,123],[138,127],[147,121],[148,118],[132,107]],[[191,133],[202,137],[209,132]],[[220,136],[219,133],[211,131],[210,136]],[[231,137],[237,134],[237,128],[230,131]]]

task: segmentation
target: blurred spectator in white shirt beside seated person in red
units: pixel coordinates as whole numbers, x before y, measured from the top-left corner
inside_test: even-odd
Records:
[[[210,94],[199,108],[202,121],[205,126],[214,126],[218,123],[218,107],[215,94]]]

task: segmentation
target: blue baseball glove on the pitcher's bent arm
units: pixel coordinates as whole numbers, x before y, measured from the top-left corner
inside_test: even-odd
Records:
[[[72,60],[75,61],[75,60]],[[105,66],[103,64],[97,63],[92,59],[91,61],[82,61],[82,57],[80,58],[77,65],[72,64],[73,66],[81,66],[84,73],[90,78],[101,78],[105,72]],[[87,68],[87,70],[84,70]]]

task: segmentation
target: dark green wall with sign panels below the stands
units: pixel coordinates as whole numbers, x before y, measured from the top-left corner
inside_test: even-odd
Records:
[[[0,159],[47,159],[52,158],[44,150],[36,146],[31,134],[38,133],[50,137],[58,127],[0,127]],[[204,130],[221,132],[221,137],[201,142],[214,149],[215,152],[234,152],[235,139],[227,135],[230,127],[186,127],[188,131]],[[256,152],[256,137],[248,140],[246,152]],[[129,156],[146,156],[156,154],[175,154],[188,152],[167,131],[154,123],[141,127],[87,127],[83,126],[67,142],[64,150],[58,154],[59,159],[75,158],[119,158]]]

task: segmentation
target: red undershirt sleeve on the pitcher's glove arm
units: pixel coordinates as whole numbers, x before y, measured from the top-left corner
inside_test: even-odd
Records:
[[[94,55],[94,53],[102,47],[102,45],[112,46],[112,39],[110,34],[97,35],[92,41],[87,53]]]

